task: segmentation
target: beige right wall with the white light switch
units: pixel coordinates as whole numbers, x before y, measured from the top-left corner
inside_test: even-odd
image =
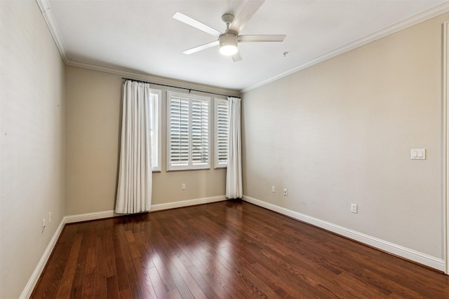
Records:
[[[244,94],[244,194],[443,258],[446,20]],[[410,160],[410,148],[427,148],[427,160]]]

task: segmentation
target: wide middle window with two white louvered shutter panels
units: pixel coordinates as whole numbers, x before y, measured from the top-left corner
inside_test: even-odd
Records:
[[[167,170],[210,168],[210,98],[167,92]]]

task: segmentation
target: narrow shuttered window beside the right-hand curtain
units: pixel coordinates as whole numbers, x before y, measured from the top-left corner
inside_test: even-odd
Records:
[[[228,120],[229,106],[227,100],[215,99],[215,168],[227,167]]]

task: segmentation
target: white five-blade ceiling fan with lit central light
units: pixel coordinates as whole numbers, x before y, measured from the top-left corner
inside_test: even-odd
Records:
[[[232,56],[234,62],[241,60],[237,43],[257,43],[257,42],[280,42],[286,38],[283,34],[269,34],[269,35],[239,35],[246,23],[253,17],[255,12],[262,6],[264,0],[248,0],[243,7],[241,13],[234,18],[231,13],[222,15],[222,20],[226,24],[225,33],[219,32],[208,25],[205,25],[197,20],[190,18],[182,13],[175,13],[173,18],[187,25],[200,29],[203,32],[217,37],[216,41],[205,43],[204,45],[185,50],[184,54],[192,54],[205,50],[214,46],[220,46],[220,53],[222,55]]]

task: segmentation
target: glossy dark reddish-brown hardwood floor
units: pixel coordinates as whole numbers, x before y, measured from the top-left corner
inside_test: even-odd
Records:
[[[32,298],[449,298],[449,277],[227,201],[66,225]]]

